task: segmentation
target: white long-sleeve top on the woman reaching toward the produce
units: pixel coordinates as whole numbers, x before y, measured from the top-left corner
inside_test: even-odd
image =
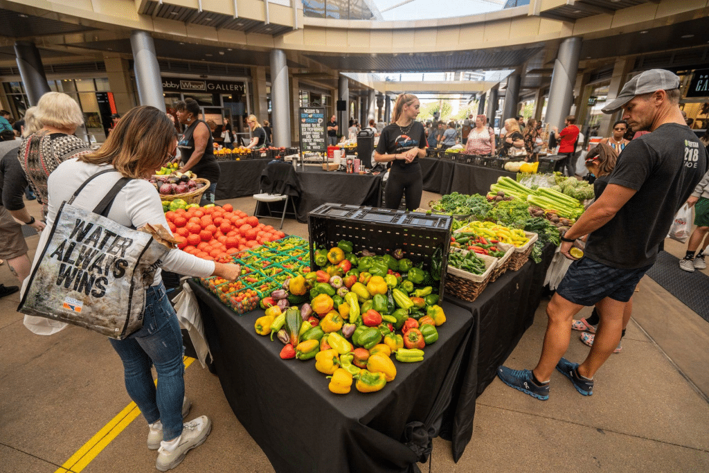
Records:
[[[46,245],[46,240],[50,234],[49,229],[52,228],[62,202],[69,201],[74,191],[79,189],[79,186],[86,179],[104,169],[111,169],[111,166],[96,166],[72,159],[62,162],[50,174],[47,181],[49,194],[48,230],[42,232],[38,248],[43,248]],[[86,187],[74,200],[73,205],[86,210],[93,210],[113,187],[113,184],[116,184],[121,177],[118,172],[106,172],[106,174],[101,174],[99,177],[94,178],[89,184],[86,184]],[[116,199],[113,200],[111,211],[108,212],[108,218],[127,227],[140,228],[145,226],[146,223],[150,223],[152,225],[160,224],[164,228],[168,228],[167,220],[162,212],[160,195],[157,194],[157,190],[150,182],[143,179],[133,179],[118,192]],[[33,267],[36,265],[36,259],[40,254],[41,251],[36,253]],[[208,277],[214,272],[214,262],[202,260],[182,250],[170,250],[162,258],[162,263],[162,267],[165,269],[188,276]],[[162,282],[160,274],[160,269],[157,269],[152,286]]]

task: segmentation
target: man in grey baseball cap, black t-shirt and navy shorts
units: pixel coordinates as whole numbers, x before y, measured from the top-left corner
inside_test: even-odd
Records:
[[[655,262],[675,213],[706,171],[707,156],[679,110],[679,77],[652,69],[633,77],[603,111],[623,108],[633,131],[650,131],[627,144],[608,184],[562,237],[559,250],[574,260],[547,306],[547,333],[534,369],[501,366],[498,377],[537,399],[549,398],[554,367],[576,391],[593,394],[593,375],[623,337],[635,286]],[[577,238],[588,235],[584,256],[569,254]],[[566,360],[571,322],[584,306],[601,316],[588,357],[580,365]],[[627,322],[627,321],[626,321]]]

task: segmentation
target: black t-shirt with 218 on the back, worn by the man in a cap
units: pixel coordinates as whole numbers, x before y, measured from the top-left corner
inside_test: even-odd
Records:
[[[706,162],[704,146],[678,123],[665,123],[628,143],[608,184],[637,192],[588,236],[586,257],[623,269],[652,265],[675,214],[706,172]]]

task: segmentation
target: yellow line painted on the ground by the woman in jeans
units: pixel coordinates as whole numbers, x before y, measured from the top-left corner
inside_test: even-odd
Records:
[[[184,367],[187,369],[194,362],[194,358],[184,357]],[[156,380],[157,384],[157,380]],[[134,402],[125,406],[123,411],[111,419],[104,425],[99,432],[96,433],[88,442],[84,443],[74,455],[69,457],[69,460],[64,462],[62,466],[54,473],[79,473],[86,468],[91,461],[96,458],[101,450],[104,450],[111,441],[123,432],[123,429],[128,427],[133,420],[140,415],[140,409]]]

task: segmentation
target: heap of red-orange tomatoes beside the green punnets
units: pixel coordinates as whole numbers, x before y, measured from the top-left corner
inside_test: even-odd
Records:
[[[179,247],[204,260],[232,262],[234,253],[284,238],[285,233],[258,218],[235,210],[231,204],[178,208],[165,213]]]

